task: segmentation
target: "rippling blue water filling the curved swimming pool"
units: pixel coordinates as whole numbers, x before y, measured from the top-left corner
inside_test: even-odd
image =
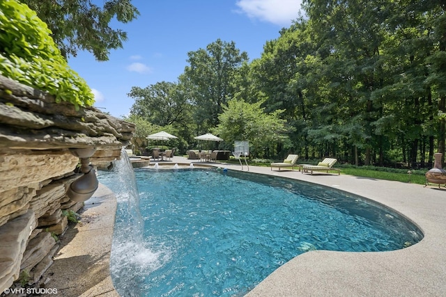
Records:
[[[121,296],[243,296],[309,250],[396,250],[422,239],[389,209],[289,179],[197,169],[135,177],[139,208],[118,198],[112,248]],[[115,193],[123,183],[99,178]]]

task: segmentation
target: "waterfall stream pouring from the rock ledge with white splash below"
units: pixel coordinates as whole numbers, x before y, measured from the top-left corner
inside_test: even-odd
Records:
[[[98,179],[116,195],[117,209],[110,257],[110,272],[121,296],[139,296],[136,288],[144,275],[162,266],[167,252],[154,252],[144,241],[144,220],[139,211],[139,193],[127,153],[114,161],[109,172],[100,172]],[[126,271],[122,273],[120,271]],[[124,276],[123,276],[124,275]]]

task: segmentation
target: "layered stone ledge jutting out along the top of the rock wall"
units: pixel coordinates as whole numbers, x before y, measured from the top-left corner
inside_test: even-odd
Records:
[[[0,148],[54,150],[130,143],[134,125],[93,107],[76,111],[52,95],[0,76]]]

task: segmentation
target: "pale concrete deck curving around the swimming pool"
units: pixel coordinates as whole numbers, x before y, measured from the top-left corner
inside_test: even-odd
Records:
[[[174,156],[171,161],[159,163],[173,165],[191,162],[241,170],[240,165],[205,163],[182,156]],[[152,161],[151,166],[154,163],[157,162]],[[309,175],[298,170],[277,169],[249,166],[249,172],[321,184],[380,202],[412,220],[424,233],[424,239],[408,248],[390,252],[305,252],[277,268],[246,296],[446,296],[446,188],[349,175]],[[247,166],[243,166],[243,171],[247,171]],[[105,194],[102,190],[95,196],[91,199],[101,198]],[[91,210],[95,208],[91,207]],[[114,218],[114,213],[109,210],[103,213],[99,209],[94,211],[96,215],[105,216],[103,219]],[[93,223],[90,224],[92,228]],[[107,261],[111,236],[112,227],[107,225],[101,228],[102,244],[105,246],[102,252],[107,255]],[[84,255],[91,255],[86,247],[96,250],[101,245],[97,241],[98,238],[92,244],[91,239],[84,236],[84,243],[76,244],[83,247]],[[76,253],[79,256],[79,252]],[[70,255],[65,254],[65,257]],[[85,294],[87,290],[82,292],[85,294],[83,296],[116,296],[109,282],[108,269],[103,269],[102,273],[104,275],[98,277],[95,272],[95,278],[107,280],[105,286],[95,283],[98,294]]]

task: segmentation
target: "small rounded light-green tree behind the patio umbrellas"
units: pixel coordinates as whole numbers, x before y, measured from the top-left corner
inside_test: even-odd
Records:
[[[262,103],[250,104],[240,99],[230,100],[219,115],[220,124],[215,133],[226,143],[249,141],[253,156],[269,156],[270,148],[276,143],[289,145],[286,120],[279,117],[283,111],[265,113],[261,107]]]

